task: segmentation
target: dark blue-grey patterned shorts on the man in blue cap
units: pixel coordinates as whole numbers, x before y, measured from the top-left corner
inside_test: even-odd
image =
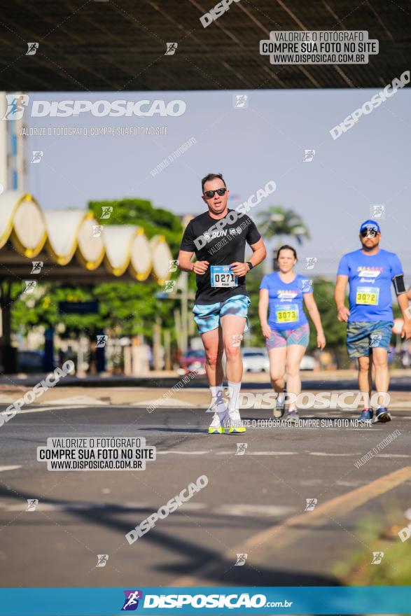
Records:
[[[349,357],[369,357],[373,347],[389,349],[392,321],[352,321],[347,324]]]

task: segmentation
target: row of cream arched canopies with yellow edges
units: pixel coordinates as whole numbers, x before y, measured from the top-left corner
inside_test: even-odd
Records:
[[[169,278],[172,253],[162,236],[150,241],[134,225],[101,225],[90,211],[42,210],[29,193],[0,195],[0,277],[29,277],[27,259],[43,261],[46,279],[116,279],[159,284]]]

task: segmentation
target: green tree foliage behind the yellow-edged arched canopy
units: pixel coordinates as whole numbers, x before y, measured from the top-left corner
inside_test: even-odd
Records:
[[[102,206],[112,206],[110,218],[102,216]],[[121,201],[93,201],[89,204],[96,220],[102,225],[138,225],[151,239],[163,235],[173,257],[176,258],[183,232],[179,217],[164,209],[157,209],[151,202],[139,199]],[[175,275],[175,274],[174,274]],[[77,336],[83,331],[95,336],[98,329],[110,330],[116,337],[144,334],[148,339],[153,335],[153,323],[156,316],[162,319],[162,325],[174,332],[174,308],[179,302],[175,300],[158,300],[155,293],[162,288],[158,282],[149,277],[144,282],[97,283],[96,285],[62,286],[60,283],[41,283],[33,294],[21,294],[21,285],[12,287],[13,331],[20,329],[27,334],[35,325],[57,325],[64,323],[64,336]],[[19,297],[20,295],[20,297]],[[99,300],[98,315],[59,314],[60,301]]]

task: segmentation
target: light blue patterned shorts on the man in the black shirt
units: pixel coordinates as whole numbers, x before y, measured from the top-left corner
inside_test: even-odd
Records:
[[[225,302],[216,302],[216,304],[195,304],[193,315],[195,323],[200,334],[211,332],[220,325],[222,316],[233,314],[235,316],[245,316],[246,326],[244,332],[249,330],[248,311],[250,298],[247,295],[233,295],[228,297]]]

